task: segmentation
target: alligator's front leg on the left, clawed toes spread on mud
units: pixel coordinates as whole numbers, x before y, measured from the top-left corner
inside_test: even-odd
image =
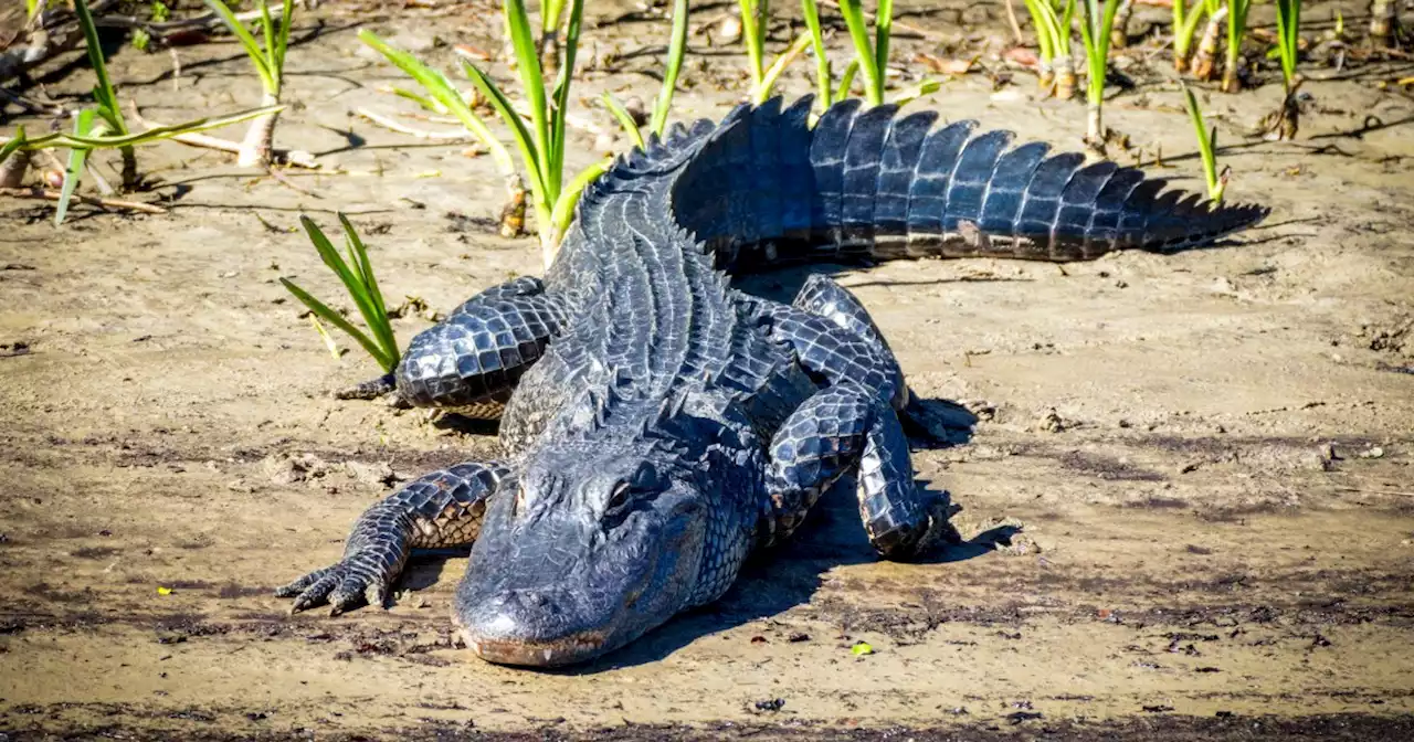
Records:
[[[458,464],[423,475],[369,507],[344,547],[344,558],[276,589],[294,598],[296,613],[328,602],[342,613],[359,601],[382,606],[414,548],[469,546],[481,530],[486,500],[510,476],[499,462]]]

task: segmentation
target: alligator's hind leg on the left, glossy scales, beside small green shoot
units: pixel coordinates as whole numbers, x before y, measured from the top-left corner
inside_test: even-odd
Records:
[[[516,278],[477,294],[420,332],[393,375],[341,396],[369,399],[396,389],[417,407],[495,420],[564,322],[563,302],[546,294],[539,278]]]

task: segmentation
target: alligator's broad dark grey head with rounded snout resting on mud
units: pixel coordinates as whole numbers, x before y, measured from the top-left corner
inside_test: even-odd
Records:
[[[553,442],[489,505],[452,620],[501,664],[561,666],[687,608],[708,531],[701,482],[639,441]]]

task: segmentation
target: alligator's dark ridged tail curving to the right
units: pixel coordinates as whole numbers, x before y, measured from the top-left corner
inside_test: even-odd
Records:
[[[1114,163],[1086,165],[1049,146],[1012,147],[976,122],[935,112],[831,106],[812,129],[812,98],[740,106],[710,131],[679,129],[687,153],[672,189],[680,226],[718,264],[850,257],[1090,260],[1121,249],[1178,252],[1261,222],[1268,209],[1164,191]],[[649,157],[653,158],[652,155]]]

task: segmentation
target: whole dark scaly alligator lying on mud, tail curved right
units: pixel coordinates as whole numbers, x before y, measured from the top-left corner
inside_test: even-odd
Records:
[[[471,546],[452,622],[482,659],[563,666],[710,603],[748,554],[853,490],[870,543],[956,541],[913,481],[928,410],[864,307],[823,274],[788,305],[732,276],[789,263],[1086,260],[1208,246],[1267,209],[1165,191],[1010,131],[812,98],[676,124],[581,195],[543,280],[471,298],[382,380],[420,407],[499,418],[502,461],[372,506],[344,557],[279,588],[293,611],[385,605],[409,554]],[[847,496],[847,495],[846,495]]]

